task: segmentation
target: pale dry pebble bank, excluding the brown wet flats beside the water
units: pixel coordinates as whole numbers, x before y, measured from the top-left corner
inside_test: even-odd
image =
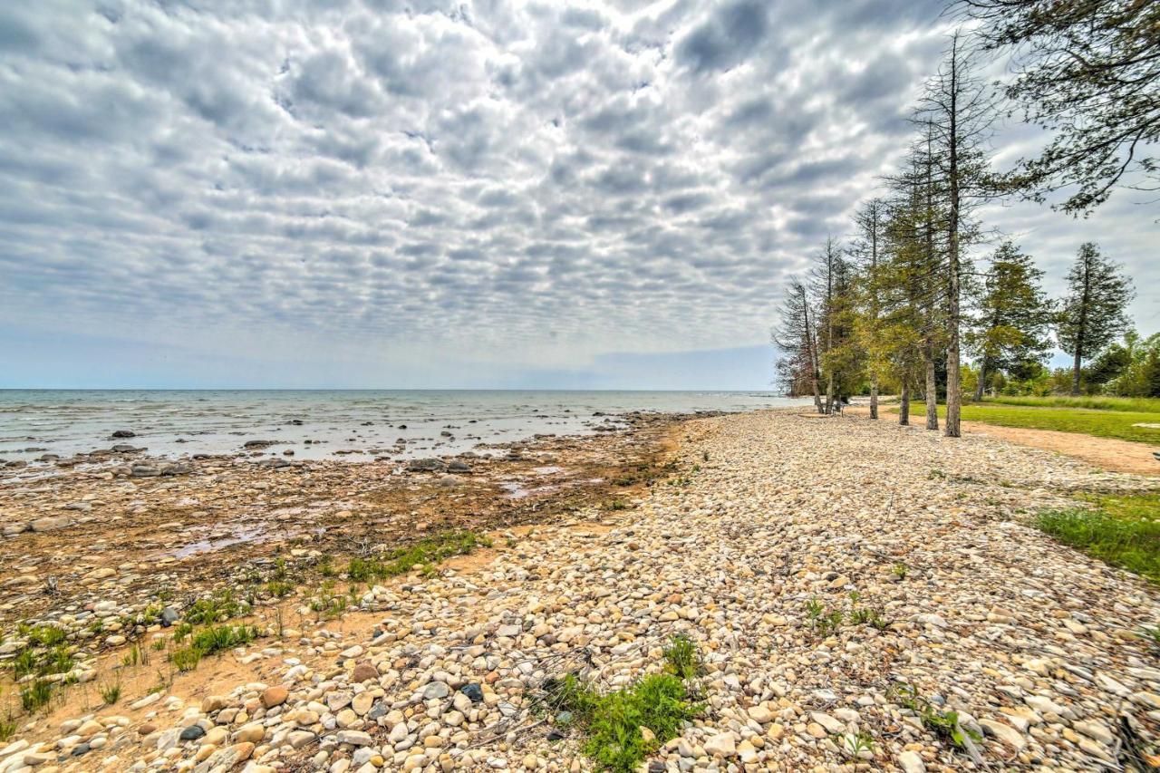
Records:
[[[79,685],[86,714],[53,707],[15,736],[43,745],[0,746],[0,771],[14,754],[65,770],[590,770],[582,731],[535,713],[544,680],[575,669],[601,692],[631,685],[676,634],[701,652],[706,709],[653,751],[657,770],[978,768],[900,685],[955,710],[1003,770],[1107,764],[1107,707],[1158,737],[1160,670],[1140,631],[1160,620],[1160,593],[1025,525],[1073,493],[1154,479],[796,409],[640,433],[600,440],[655,454],[653,485],[625,486],[625,508],[589,499],[524,513],[539,519],[528,526],[508,513],[492,547],[364,584],[333,616],[293,597],[285,619],[239,619],[264,635],[159,692],[157,664],[124,666],[126,693],[103,709],[96,682]],[[495,464],[560,467],[536,462],[585,447]],[[455,496],[435,474],[403,477],[419,499]]]

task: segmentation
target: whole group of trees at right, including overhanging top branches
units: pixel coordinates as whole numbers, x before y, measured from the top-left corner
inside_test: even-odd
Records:
[[[820,413],[865,391],[875,419],[879,391],[897,390],[900,424],[921,393],[929,429],[940,428],[943,391],[943,429],[958,436],[964,395],[1063,391],[1063,374],[1044,367],[1054,340],[1073,360],[1066,391],[1119,381],[1160,396],[1160,335],[1141,341],[1130,332],[1131,280],[1096,244],[1079,247],[1059,299],[1046,296],[1043,272],[1014,241],[974,257],[987,238],[977,217],[987,202],[1066,192],[1054,207],[1082,216],[1116,188],[1160,181],[1144,153],[1160,140],[1160,36],[1152,34],[1160,3],[1085,0],[1061,10],[1053,0],[962,0],[954,9],[970,32],[950,36],[926,84],[901,168],[884,195],[857,209],[847,244],[827,239],[809,274],[788,280],[773,331],[778,382],[811,395]],[[1014,74],[988,84],[980,63],[1002,52],[1012,52]],[[996,172],[989,140],[1014,109],[1051,140]]]

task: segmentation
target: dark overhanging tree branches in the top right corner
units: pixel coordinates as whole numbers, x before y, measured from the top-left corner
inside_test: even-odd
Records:
[[[1053,132],[1009,183],[1035,200],[1072,188],[1059,209],[1086,215],[1125,175],[1155,189],[1160,142],[1160,2],[1148,0],[957,0],[981,21],[991,51],[1012,53],[1006,93],[1024,120]]]

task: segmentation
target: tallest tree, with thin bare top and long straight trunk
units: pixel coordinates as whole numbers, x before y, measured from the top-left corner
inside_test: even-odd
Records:
[[[985,152],[995,120],[994,101],[976,77],[976,62],[959,32],[938,74],[927,84],[915,121],[927,131],[930,161],[937,171],[935,185],[944,197],[945,215],[945,324],[947,425],[944,434],[958,438],[962,409],[960,338],[964,245],[971,232],[970,209],[995,195]],[[929,391],[929,390],[928,390]],[[928,402],[931,396],[928,396]]]

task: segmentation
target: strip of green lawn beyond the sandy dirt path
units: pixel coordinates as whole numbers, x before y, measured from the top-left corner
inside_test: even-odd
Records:
[[[1024,399],[1024,398],[1010,398]],[[1025,398],[1066,399],[1066,398]],[[1117,398],[1079,398],[1117,399]],[[1125,398],[1126,399],[1126,398]],[[1137,400],[1133,400],[1137,402]],[[1157,400],[1153,400],[1157,402]],[[926,405],[911,403],[911,424],[921,422]],[[938,416],[947,416],[947,407],[938,406]],[[1095,410],[1088,407],[1051,407],[1041,405],[1008,405],[998,403],[966,403],[963,405],[964,421],[981,421],[1001,427],[1027,427],[1029,429],[1054,429],[1074,432],[1096,438],[1115,438],[1132,442],[1160,445],[1160,429],[1136,427],[1136,424],[1160,424],[1157,412],[1128,411],[1119,409]]]

